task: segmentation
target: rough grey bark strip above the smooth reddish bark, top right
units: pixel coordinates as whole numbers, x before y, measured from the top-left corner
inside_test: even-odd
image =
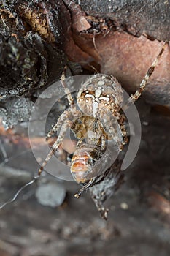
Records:
[[[141,0],[99,0],[74,1],[80,3],[88,15],[110,18],[129,34],[148,37],[161,41],[170,40],[169,1]]]

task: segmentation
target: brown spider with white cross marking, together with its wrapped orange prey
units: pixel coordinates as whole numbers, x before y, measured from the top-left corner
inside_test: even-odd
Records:
[[[169,43],[165,42],[163,44],[160,53],[158,53],[151,67],[147,70],[139,89],[134,94],[131,94],[123,109],[128,108],[139,99],[166,45],[169,45]],[[128,143],[125,116],[120,112],[123,105],[123,91],[114,76],[97,73],[86,80],[80,91],[78,91],[77,108],[72,94],[66,86],[65,79],[65,72],[63,72],[61,84],[69,101],[69,108],[61,114],[57,123],[47,134],[48,139],[54,132],[59,131],[57,140],[39,168],[38,176],[41,175],[45,165],[58,146],[60,146],[66,135],[66,130],[71,128],[78,139],[70,168],[74,180],[82,185],[80,192],[74,195],[78,198],[82,192],[99,184],[107,176],[108,170],[98,175],[95,172],[95,166],[98,161],[100,162],[104,151],[106,151],[106,142],[109,140],[114,141],[118,151],[122,151],[123,146]]]

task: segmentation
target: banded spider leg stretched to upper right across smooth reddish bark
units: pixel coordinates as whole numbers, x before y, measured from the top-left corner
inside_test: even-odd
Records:
[[[137,99],[139,99],[139,97],[141,96],[142,92],[144,91],[144,88],[147,84],[147,81],[150,79],[150,76],[152,75],[152,72],[154,72],[155,67],[158,64],[159,59],[161,59],[161,56],[166,48],[166,46],[169,45],[169,42],[165,42],[163,44],[163,47],[161,48],[160,53],[158,54],[158,56],[155,58],[155,60],[152,62],[152,65],[150,66],[150,68],[147,70],[146,75],[144,75],[144,78],[139,86],[139,89],[136,90],[136,92],[134,94],[131,94],[131,97],[129,97],[128,102],[126,103],[126,105],[123,107],[123,110],[127,109],[131,104],[133,104],[134,102],[136,102]]]

